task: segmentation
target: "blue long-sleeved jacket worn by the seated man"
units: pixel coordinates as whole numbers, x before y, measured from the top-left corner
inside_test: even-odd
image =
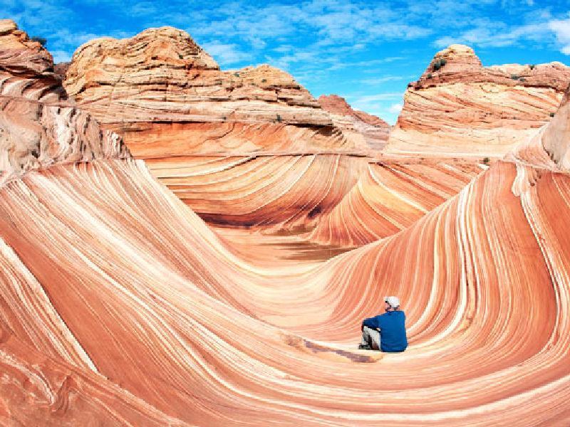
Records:
[[[408,339],[405,336],[405,313],[401,310],[370,317],[364,320],[363,325],[380,330],[380,350],[383,352],[399,353],[408,347]]]

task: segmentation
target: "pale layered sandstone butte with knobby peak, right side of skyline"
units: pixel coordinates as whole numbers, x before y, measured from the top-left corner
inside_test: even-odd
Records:
[[[505,154],[549,122],[569,83],[561,63],[483,67],[471,48],[452,45],[410,83],[387,150]]]

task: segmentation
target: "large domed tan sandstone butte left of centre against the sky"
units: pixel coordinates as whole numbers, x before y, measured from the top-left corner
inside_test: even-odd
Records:
[[[171,27],[84,44],[65,87],[139,157],[149,155],[147,145],[173,140],[186,154],[354,148],[291,75],[269,65],[221,71],[185,31]],[[259,137],[260,125],[271,138]]]

